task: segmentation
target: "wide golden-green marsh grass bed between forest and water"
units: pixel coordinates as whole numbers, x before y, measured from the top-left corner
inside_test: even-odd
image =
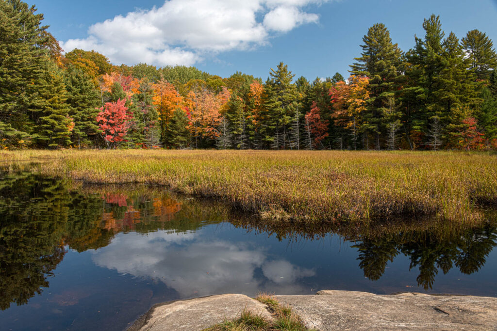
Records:
[[[0,163],[88,183],[147,183],[221,199],[263,219],[426,217],[479,222],[497,203],[497,156],[461,152],[64,150],[1,152]]]

